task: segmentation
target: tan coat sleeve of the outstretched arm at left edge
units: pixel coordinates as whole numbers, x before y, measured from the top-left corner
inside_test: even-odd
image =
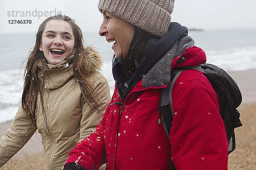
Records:
[[[9,129],[0,138],[0,167],[21,149],[37,130],[36,125],[32,125],[30,129],[29,127],[30,118],[20,106]]]

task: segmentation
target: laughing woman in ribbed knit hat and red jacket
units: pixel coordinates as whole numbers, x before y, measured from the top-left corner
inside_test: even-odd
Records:
[[[104,162],[107,170],[227,170],[218,98],[201,71],[183,71],[175,81],[169,138],[158,121],[172,69],[206,61],[187,28],[170,23],[174,0],[99,0],[98,7],[99,34],[114,41],[116,88],[101,123],[70,151],[64,170]]]

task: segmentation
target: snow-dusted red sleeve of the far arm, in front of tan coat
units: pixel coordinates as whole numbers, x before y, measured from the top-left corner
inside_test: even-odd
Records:
[[[93,133],[76,144],[75,148],[69,152],[69,157],[65,164],[75,162],[87,170],[97,170],[101,164],[106,163],[104,131],[107,117],[108,108],[106,109],[100,124],[96,126]]]

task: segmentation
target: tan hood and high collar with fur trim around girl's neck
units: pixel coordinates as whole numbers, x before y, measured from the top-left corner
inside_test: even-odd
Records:
[[[65,63],[61,68],[55,68],[55,65],[52,65],[54,69],[39,64],[39,75],[44,74],[44,88],[59,88],[74,77],[74,70],[90,76],[94,71],[100,70],[101,65],[102,61],[98,52],[95,48],[89,46],[85,48],[84,55],[81,58],[78,57],[76,68],[73,68],[73,63],[70,65]]]

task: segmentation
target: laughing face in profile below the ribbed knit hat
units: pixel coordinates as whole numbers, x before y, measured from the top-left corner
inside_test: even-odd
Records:
[[[108,12],[103,12],[103,22],[99,35],[105,36],[108,42],[113,42],[112,49],[117,58],[128,55],[131,40],[134,36],[134,26]]]

